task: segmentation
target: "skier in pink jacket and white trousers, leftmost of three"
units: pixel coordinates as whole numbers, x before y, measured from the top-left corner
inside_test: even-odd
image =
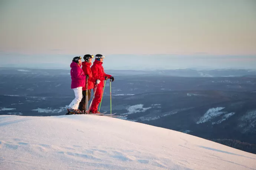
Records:
[[[85,74],[81,69],[82,61],[81,56],[76,56],[70,64],[71,70],[71,88],[74,90],[75,99],[69,104],[68,112],[80,113],[78,110],[79,103],[83,98],[82,88],[85,86]]]

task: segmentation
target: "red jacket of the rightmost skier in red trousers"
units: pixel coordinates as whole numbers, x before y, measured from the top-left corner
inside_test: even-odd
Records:
[[[105,77],[107,76],[108,78],[111,77],[111,75],[107,75],[104,72],[103,66],[102,66],[103,62],[100,62],[98,60],[95,60],[93,62],[93,65],[91,67],[92,70],[92,76],[93,78],[95,78],[95,80],[99,79],[100,80],[100,84],[98,86],[102,86],[104,87],[104,80]]]

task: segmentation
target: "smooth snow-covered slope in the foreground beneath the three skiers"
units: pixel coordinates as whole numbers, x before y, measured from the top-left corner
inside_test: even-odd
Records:
[[[0,169],[256,169],[256,155],[110,117],[2,115]]]

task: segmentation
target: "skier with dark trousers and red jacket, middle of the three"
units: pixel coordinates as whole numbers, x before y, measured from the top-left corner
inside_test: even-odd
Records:
[[[84,71],[84,74],[86,76],[86,84],[83,87],[83,98],[79,103],[79,107],[78,107],[78,109],[81,110],[82,112],[85,112],[86,102],[88,103],[89,100],[91,99],[91,90],[94,87],[94,83],[96,81],[96,79],[92,77],[92,71],[91,71],[93,58],[94,58],[93,55],[86,54],[84,55],[84,62],[82,62],[82,70]],[[86,94],[86,90],[87,90],[87,94]],[[86,101],[86,95],[88,96],[87,101]]]

